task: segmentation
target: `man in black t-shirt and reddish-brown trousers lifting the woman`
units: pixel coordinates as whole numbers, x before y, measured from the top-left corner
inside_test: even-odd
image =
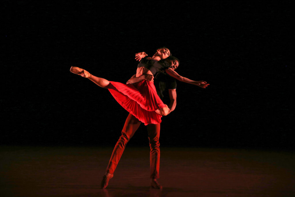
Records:
[[[166,61],[170,65],[170,67],[175,70],[179,65],[179,60],[173,56],[169,56],[166,58]],[[143,78],[144,77],[144,78]],[[137,83],[141,80],[152,81],[153,77],[150,75],[145,75],[141,77],[132,77],[127,83]],[[172,112],[176,107],[176,80],[166,73],[158,73],[155,77],[155,87],[159,97],[163,100],[163,91],[168,89],[170,104],[169,109]],[[122,135],[119,138],[111,159],[109,161],[109,165],[106,168],[106,173],[103,176],[101,181],[101,188],[106,188],[109,180],[113,177],[114,170],[117,167],[117,164],[122,156],[124,148],[130,138],[134,135],[135,131],[140,126],[141,122],[132,114],[129,114],[123,130]],[[162,186],[157,182],[159,178],[159,169],[160,169],[160,123],[159,124],[149,124],[147,125],[149,142],[150,142],[150,185],[152,188],[162,189]]]

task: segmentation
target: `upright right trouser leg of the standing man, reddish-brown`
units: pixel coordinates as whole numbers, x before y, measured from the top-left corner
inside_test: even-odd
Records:
[[[160,169],[160,123],[147,125],[150,141],[150,178],[158,179]]]

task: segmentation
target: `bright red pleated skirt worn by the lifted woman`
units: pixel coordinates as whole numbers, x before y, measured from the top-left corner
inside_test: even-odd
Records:
[[[109,91],[116,101],[145,125],[158,124],[161,115],[155,111],[166,105],[157,94],[153,82],[142,80],[135,84],[110,81]]]

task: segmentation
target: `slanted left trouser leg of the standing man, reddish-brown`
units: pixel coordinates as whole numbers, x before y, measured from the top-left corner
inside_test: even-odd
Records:
[[[132,114],[128,115],[122,130],[122,135],[113,150],[109,165],[106,168],[106,173],[114,174],[127,142],[132,138],[140,124],[141,122],[135,116]]]

